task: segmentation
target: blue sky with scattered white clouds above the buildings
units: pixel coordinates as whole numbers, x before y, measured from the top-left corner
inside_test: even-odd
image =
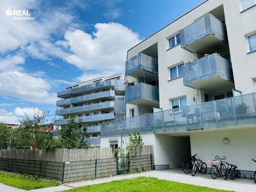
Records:
[[[0,122],[60,118],[58,90],[124,73],[131,47],[203,1],[0,0]]]

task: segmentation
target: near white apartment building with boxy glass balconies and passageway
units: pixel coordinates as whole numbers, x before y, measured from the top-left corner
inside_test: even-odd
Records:
[[[156,169],[198,154],[255,170],[255,19],[255,0],[208,0],[129,49],[127,118],[102,125],[100,146],[136,129]]]

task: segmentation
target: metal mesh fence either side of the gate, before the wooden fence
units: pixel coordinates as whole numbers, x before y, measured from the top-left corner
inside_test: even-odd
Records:
[[[153,162],[152,154],[134,156],[131,159],[129,172],[152,170]],[[0,170],[4,172],[38,175],[55,179],[62,184],[116,175],[116,168],[115,158],[70,162],[0,158]]]

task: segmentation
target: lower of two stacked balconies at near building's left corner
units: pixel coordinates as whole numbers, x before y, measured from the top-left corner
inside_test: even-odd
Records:
[[[159,88],[145,83],[131,86],[125,90],[125,102],[144,106],[159,105]]]

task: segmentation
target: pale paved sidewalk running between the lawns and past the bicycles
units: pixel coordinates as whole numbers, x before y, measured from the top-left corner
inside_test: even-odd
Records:
[[[93,184],[100,184],[103,182],[111,182],[112,180],[122,180],[122,179],[130,179],[134,177],[157,177],[158,179],[172,180],[176,182],[193,184],[196,186],[205,186],[209,188],[215,189],[225,189],[230,191],[241,191],[241,192],[254,192],[256,191],[256,184],[253,180],[248,179],[234,179],[224,180],[223,177],[218,177],[217,179],[212,179],[211,175],[201,175],[200,173],[196,173],[195,177],[192,177],[190,174],[186,175],[182,170],[157,170],[152,172],[144,172],[137,173],[131,175],[117,175],[115,177],[108,177],[104,179],[95,179],[88,180],[83,182],[76,182],[70,184],[63,184],[63,186],[57,186],[53,188],[43,188],[43,189],[35,189],[31,190],[31,192],[56,192],[56,191],[65,191],[68,189],[74,189],[81,186],[88,186]],[[8,192],[24,192],[21,189],[15,189],[8,186],[0,185],[0,191],[4,189],[4,191]]]

